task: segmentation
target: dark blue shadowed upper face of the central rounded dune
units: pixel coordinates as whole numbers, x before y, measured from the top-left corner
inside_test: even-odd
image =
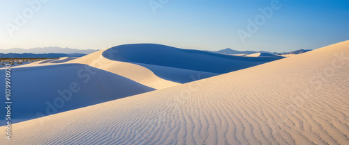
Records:
[[[126,44],[115,46],[105,50],[103,56],[110,60],[121,62],[160,65],[216,74],[245,69],[283,58],[230,56],[207,51],[177,49],[161,44]]]

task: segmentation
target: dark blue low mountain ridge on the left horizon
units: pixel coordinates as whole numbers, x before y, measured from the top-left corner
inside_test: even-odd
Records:
[[[81,57],[86,56],[86,54],[82,53],[43,53],[43,54],[33,54],[33,53],[0,53],[0,58],[62,58],[62,57]]]

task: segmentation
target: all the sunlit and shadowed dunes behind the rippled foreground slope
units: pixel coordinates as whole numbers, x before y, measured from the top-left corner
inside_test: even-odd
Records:
[[[154,48],[158,51],[151,50]],[[167,49],[171,50],[170,54],[164,51]],[[124,54],[115,53],[119,51]],[[135,53],[140,51],[146,53]],[[164,55],[174,57],[161,58]],[[140,56],[143,61],[117,60],[119,58],[136,60]],[[198,61],[200,59],[206,62]],[[279,59],[281,58],[234,57],[206,52],[202,55],[202,51],[177,49],[159,44],[129,44],[96,51],[81,58],[56,58],[33,62],[12,67],[15,77],[11,80],[11,87],[16,92],[12,101],[18,106],[12,109],[15,117],[11,121],[18,123],[36,119]],[[161,61],[163,64],[154,64],[147,60]],[[185,64],[173,63],[178,60],[181,62],[185,60]],[[215,60],[217,63],[207,60]],[[184,69],[181,68],[181,64],[193,67]],[[207,67],[210,69],[206,69]],[[5,69],[0,69],[1,71]],[[5,86],[0,84],[0,87]],[[0,104],[0,107],[6,106]],[[0,126],[3,125],[6,125],[6,121],[1,118]]]

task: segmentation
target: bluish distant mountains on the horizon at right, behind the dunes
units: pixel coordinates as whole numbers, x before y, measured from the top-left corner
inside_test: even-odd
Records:
[[[233,49],[222,49],[220,51],[214,51],[215,53],[223,53],[223,54],[253,54],[253,53],[269,53],[269,54],[274,54],[274,55],[285,55],[285,54],[299,54],[299,53],[305,53],[311,51],[310,49],[304,50],[300,49],[297,51],[292,51],[292,52],[283,52],[283,53],[277,53],[277,52],[268,52],[268,51],[236,51]]]

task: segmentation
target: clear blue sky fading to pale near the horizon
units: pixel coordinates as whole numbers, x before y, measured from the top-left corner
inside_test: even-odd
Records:
[[[271,1],[169,0],[154,14],[149,0],[51,0],[10,36],[7,24],[15,24],[15,13],[31,7],[27,0],[0,0],[0,49],[156,43],[283,52],[349,40],[348,0],[279,0],[281,8],[243,44],[237,31],[247,31],[247,19],[254,20],[261,14],[258,8],[271,6]]]

